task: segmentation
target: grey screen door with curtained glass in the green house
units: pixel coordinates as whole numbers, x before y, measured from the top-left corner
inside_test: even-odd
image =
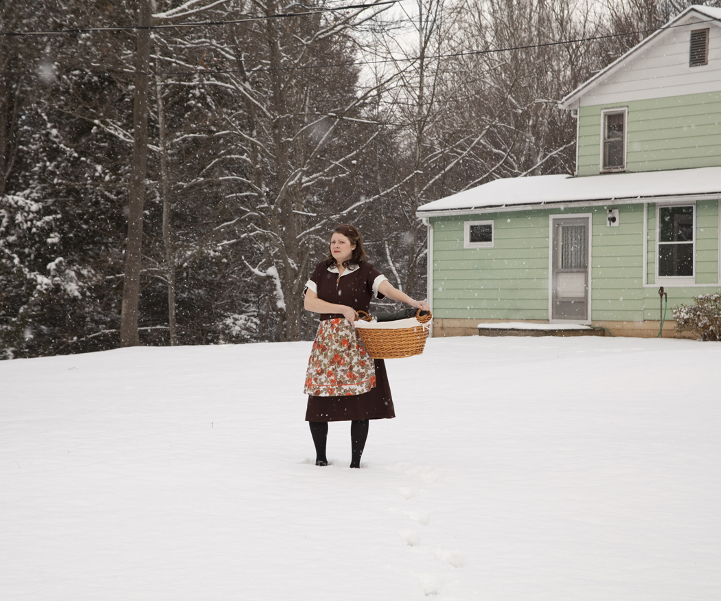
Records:
[[[588,320],[588,229],[588,217],[552,221],[554,320]]]

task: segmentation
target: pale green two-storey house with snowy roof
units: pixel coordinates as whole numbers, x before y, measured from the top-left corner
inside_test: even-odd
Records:
[[[434,335],[524,322],[650,336],[661,286],[668,317],[721,292],[721,9],[689,7],[560,108],[578,119],[574,175],[495,180],[417,210]]]

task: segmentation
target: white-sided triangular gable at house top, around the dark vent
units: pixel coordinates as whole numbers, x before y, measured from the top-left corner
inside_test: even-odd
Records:
[[[692,6],[561,101],[609,105],[721,90],[721,9]],[[691,31],[709,29],[709,61],[689,66]]]

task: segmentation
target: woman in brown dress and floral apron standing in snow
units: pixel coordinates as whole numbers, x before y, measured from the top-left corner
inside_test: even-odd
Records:
[[[361,232],[352,225],[339,225],[333,230],[327,259],[306,282],[305,308],[321,314],[305,386],[316,465],[328,465],[329,421],[350,420],[350,467],[360,468],[368,420],[395,417],[384,361],[368,356],[355,331],[358,311],[368,312],[371,297],[389,297],[430,311],[425,301],[395,289],[365,258]]]

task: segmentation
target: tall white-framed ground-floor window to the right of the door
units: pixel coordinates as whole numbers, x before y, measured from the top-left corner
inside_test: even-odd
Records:
[[[694,206],[658,207],[658,277],[694,276]]]

